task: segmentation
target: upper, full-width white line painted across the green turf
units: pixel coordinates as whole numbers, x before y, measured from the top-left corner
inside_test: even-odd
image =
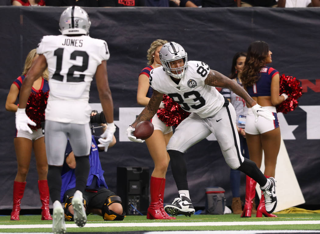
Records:
[[[179,226],[244,226],[244,225],[295,225],[320,224],[320,220],[310,221],[258,221],[258,222],[142,222],[142,223],[87,223],[84,227],[179,227]],[[66,224],[67,228],[76,228],[76,224]],[[0,225],[0,229],[8,228],[52,228],[52,224]]]

